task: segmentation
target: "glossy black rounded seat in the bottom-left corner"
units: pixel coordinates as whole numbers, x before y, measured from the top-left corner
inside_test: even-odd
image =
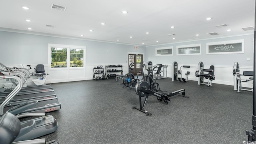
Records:
[[[20,120],[7,112],[0,119],[0,140],[4,144],[12,144],[20,133]]]

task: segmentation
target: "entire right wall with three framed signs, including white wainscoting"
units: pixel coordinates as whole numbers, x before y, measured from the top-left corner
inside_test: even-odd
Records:
[[[214,38],[208,40],[195,40],[191,42],[180,42],[173,44],[165,44],[159,46],[148,46],[147,47],[147,60],[153,62],[153,64],[161,63],[168,64],[168,77],[172,77],[172,62],[178,62],[178,69],[180,66],[190,65],[190,68],[182,68],[184,72],[190,71],[189,79],[197,80],[195,72],[198,68],[198,63],[202,61],[204,68],[208,69],[211,65],[215,66],[214,75],[216,80],[213,83],[233,85],[233,66],[234,62],[238,62],[240,65],[240,72],[244,70],[253,71],[253,34],[244,36],[232,36],[227,38]],[[244,40],[244,53],[243,54],[206,54],[206,43],[207,42],[220,42],[228,40]],[[201,55],[176,55],[176,46],[189,45],[189,44],[201,44]],[[173,56],[155,56],[155,49],[160,47],[173,46]],[[247,61],[250,58],[250,61]],[[184,75],[185,76],[185,75]],[[244,82],[242,86],[252,87],[252,83]]]

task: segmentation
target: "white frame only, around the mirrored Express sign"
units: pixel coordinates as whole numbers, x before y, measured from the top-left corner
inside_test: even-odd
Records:
[[[218,44],[235,44],[242,43],[242,51],[241,52],[209,52],[209,46],[218,45]],[[241,40],[228,40],[221,42],[207,42],[206,43],[206,54],[244,54],[244,39]]]

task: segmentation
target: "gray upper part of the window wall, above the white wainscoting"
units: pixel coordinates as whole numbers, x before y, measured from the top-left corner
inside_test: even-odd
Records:
[[[0,62],[48,64],[49,43],[86,46],[86,64],[119,64],[127,61],[128,52],[146,54],[143,46],[135,51],[132,45],[0,31]]]

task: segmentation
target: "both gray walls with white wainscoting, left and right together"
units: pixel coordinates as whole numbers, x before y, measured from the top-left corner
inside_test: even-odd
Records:
[[[219,42],[227,40],[244,39],[244,54],[214,54],[206,55],[207,42]],[[48,66],[48,44],[63,44],[86,46],[86,64],[84,68],[73,68],[70,70],[49,70]],[[176,46],[188,44],[201,44],[201,55],[176,56]],[[233,64],[239,62],[240,71],[253,70],[253,34],[244,36],[231,36],[227,38],[214,38],[208,40],[195,40],[191,42],[180,42],[164,44],[159,46],[138,46],[128,44],[114,44],[108,42],[98,42],[90,40],[81,40],[74,38],[60,38],[54,36],[42,36],[35,34],[24,34],[18,32],[0,31],[0,62],[7,66],[19,66],[20,63],[30,64],[35,67],[36,64],[44,64],[48,76],[48,83],[66,82],[75,80],[91,80],[94,66],[121,64],[124,74],[128,72],[128,52],[143,53],[144,61],[152,61],[153,64],[168,64],[168,77],[172,77],[172,62],[177,61],[179,68],[182,65],[190,65],[191,68],[184,68],[190,71],[190,80],[197,80],[194,73],[197,70],[198,62],[204,62],[204,67],[215,66],[216,80],[213,83],[233,85]],[[173,56],[155,56],[155,48],[173,46]],[[250,61],[247,61],[250,58]],[[252,87],[252,84],[245,83],[243,86]]]

